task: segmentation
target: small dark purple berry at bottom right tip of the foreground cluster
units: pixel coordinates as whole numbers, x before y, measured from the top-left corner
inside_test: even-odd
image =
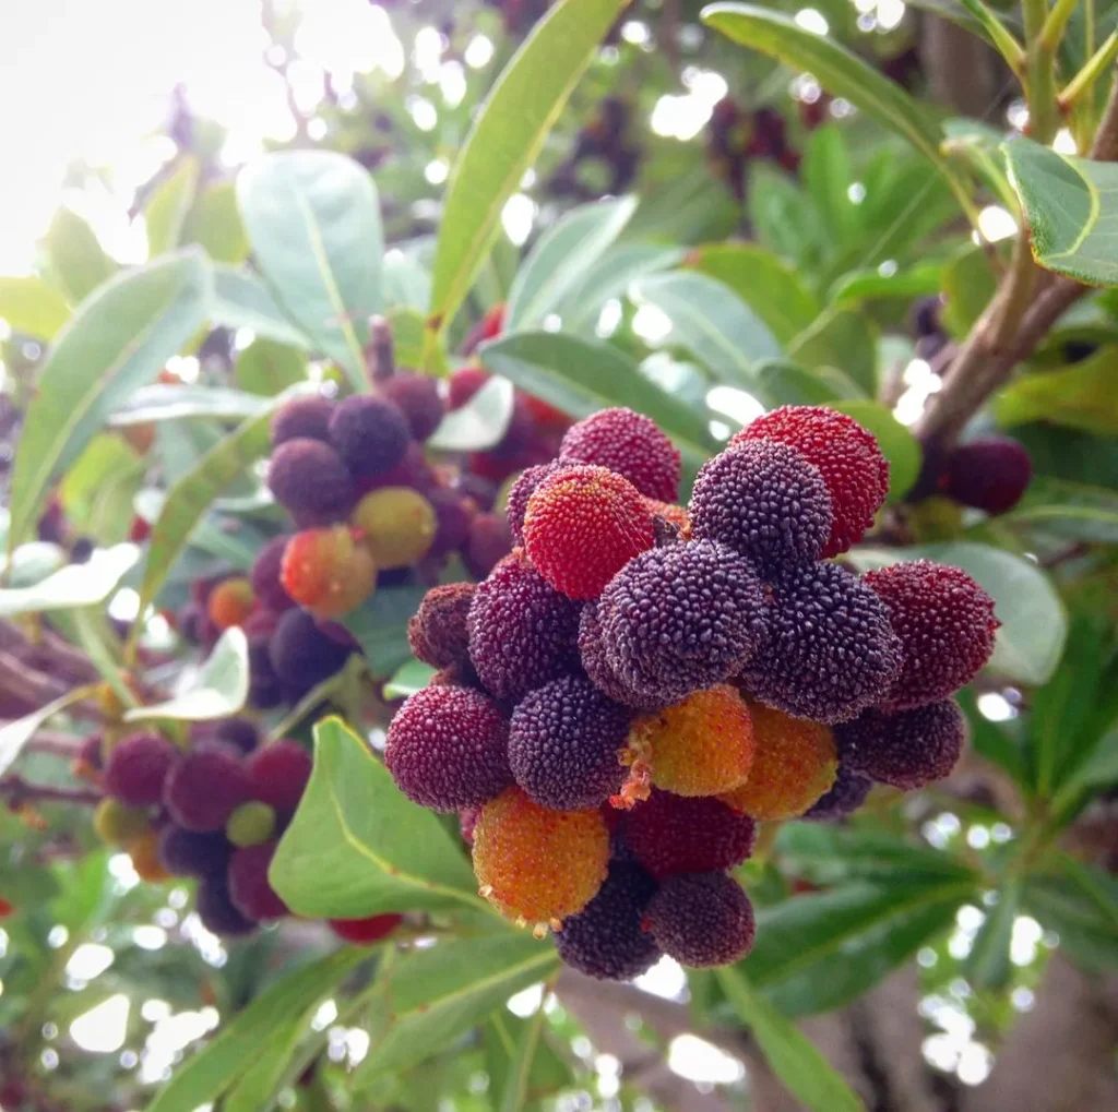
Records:
[[[652,897],[645,924],[681,966],[708,969],[740,961],[754,945],[754,906],[724,873],[673,876]]]

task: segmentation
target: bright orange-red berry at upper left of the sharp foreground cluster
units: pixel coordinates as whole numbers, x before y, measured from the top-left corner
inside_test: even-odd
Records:
[[[540,574],[568,598],[600,595],[654,541],[644,498],[628,479],[605,467],[562,467],[528,500],[528,555]]]

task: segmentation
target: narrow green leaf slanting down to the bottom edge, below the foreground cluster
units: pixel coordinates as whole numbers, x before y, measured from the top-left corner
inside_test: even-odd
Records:
[[[865,1112],[865,1105],[827,1059],[790,1019],[754,990],[739,967],[723,966],[714,976],[788,1092],[813,1112]]]

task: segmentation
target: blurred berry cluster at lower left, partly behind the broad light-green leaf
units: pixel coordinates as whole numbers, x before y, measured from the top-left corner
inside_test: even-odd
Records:
[[[198,914],[215,934],[248,934],[288,913],[268,866],[311,777],[299,742],[260,744],[256,726],[234,717],[197,729],[189,749],[153,731],[112,745],[94,734],[79,766],[105,792],[93,818],[98,837],[125,849],[144,881],[196,878]],[[371,942],[400,918],[330,925],[348,941]]]

